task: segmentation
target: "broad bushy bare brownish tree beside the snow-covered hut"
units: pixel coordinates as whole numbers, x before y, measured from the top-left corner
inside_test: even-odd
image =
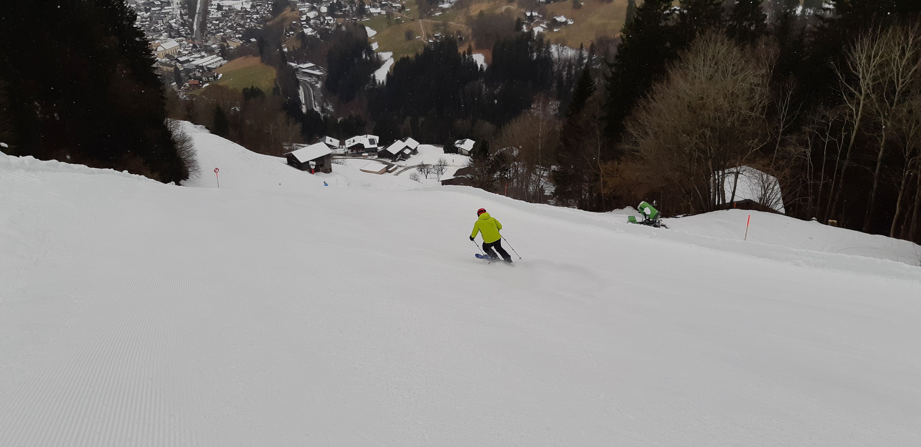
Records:
[[[713,211],[726,197],[727,169],[768,143],[773,55],[742,49],[708,31],[682,52],[626,126],[624,149],[680,191],[688,211]]]

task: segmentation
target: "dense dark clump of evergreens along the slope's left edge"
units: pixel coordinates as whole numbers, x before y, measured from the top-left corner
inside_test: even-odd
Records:
[[[135,20],[122,0],[5,7],[0,120],[9,123],[21,154],[127,169],[164,182],[188,177],[150,68],[149,42]]]

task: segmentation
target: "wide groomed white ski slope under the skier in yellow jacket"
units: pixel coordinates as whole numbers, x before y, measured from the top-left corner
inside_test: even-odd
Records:
[[[921,444],[921,269],[297,174],[0,155],[0,445]]]

